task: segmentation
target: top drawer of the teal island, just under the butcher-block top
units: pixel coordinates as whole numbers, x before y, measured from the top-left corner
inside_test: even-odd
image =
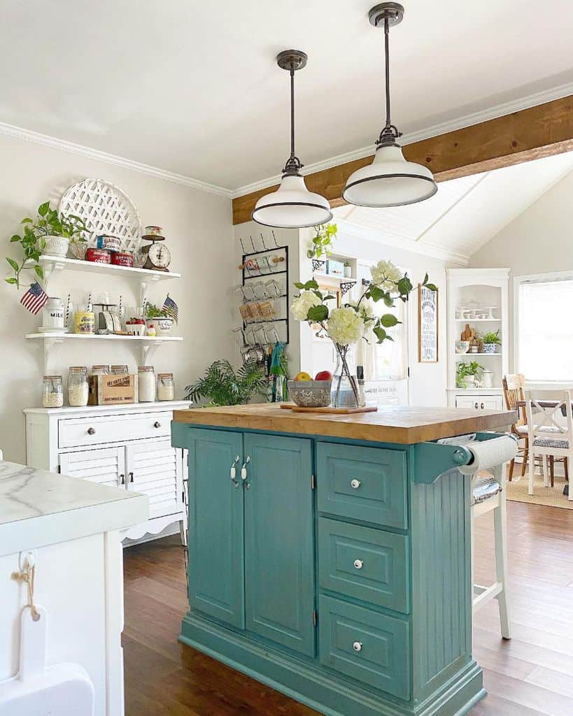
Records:
[[[408,527],[406,456],[400,450],[318,442],[317,492],[321,512]]]

